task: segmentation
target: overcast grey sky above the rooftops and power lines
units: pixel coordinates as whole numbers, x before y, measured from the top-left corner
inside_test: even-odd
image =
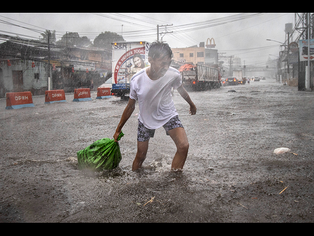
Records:
[[[157,40],[157,25],[172,24],[167,28],[169,33],[162,35],[172,48],[206,44],[213,38],[218,53],[237,56],[242,64],[245,60],[246,65],[264,65],[269,58],[277,59],[281,44],[266,39],[285,42],[285,25],[292,23],[294,27],[294,13],[240,14],[0,13],[0,34],[38,39],[40,32],[49,29],[56,30],[57,40],[66,32],[78,32],[93,41],[99,33],[111,31],[122,33],[127,41],[153,42]],[[165,32],[165,28],[159,28],[159,32]]]

